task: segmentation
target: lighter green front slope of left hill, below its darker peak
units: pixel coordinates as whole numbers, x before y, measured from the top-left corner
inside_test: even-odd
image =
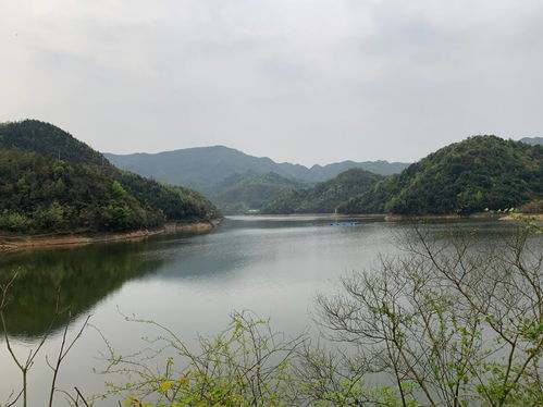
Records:
[[[0,150],[0,227],[15,233],[102,232],[163,222],[97,166]]]

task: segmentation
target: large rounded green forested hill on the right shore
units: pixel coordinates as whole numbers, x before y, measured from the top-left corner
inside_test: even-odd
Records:
[[[543,147],[474,136],[452,144],[338,207],[341,213],[448,214],[543,197]]]

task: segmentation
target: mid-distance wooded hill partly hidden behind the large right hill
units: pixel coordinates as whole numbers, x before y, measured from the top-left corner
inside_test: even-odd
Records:
[[[350,169],[312,187],[285,192],[264,205],[261,213],[332,213],[337,205],[370,189],[381,180],[382,175]]]

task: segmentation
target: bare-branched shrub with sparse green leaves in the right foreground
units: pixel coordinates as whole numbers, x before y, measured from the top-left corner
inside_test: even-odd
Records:
[[[440,243],[415,227],[402,236],[405,256],[319,297],[321,323],[400,406],[540,406],[543,250],[532,232],[489,249],[477,234]]]

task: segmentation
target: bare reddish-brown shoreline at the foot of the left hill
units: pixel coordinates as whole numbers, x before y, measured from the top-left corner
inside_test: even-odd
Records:
[[[223,218],[198,222],[168,222],[163,226],[150,230],[138,230],[124,233],[66,234],[47,236],[10,236],[0,237],[0,252],[16,250],[34,250],[40,248],[72,247],[96,243],[113,243],[137,240],[156,235],[178,232],[205,233],[219,226]]]

